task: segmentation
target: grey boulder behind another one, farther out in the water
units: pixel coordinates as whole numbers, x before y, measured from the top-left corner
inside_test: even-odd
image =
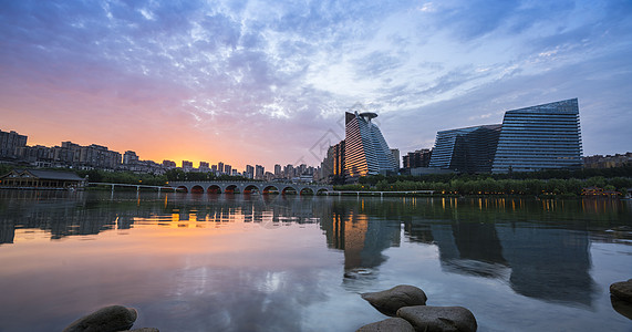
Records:
[[[423,290],[408,284],[395,286],[381,292],[363,293],[361,297],[383,314],[392,317],[397,313],[400,308],[424,305],[427,300]]]

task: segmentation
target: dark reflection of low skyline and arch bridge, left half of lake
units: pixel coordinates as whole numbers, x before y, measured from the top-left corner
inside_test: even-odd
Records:
[[[0,245],[13,243],[15,230],[27,229],[39,229],[56,240],[145,226],[206,228],[252,222],[273,228],[287,222],[320,222],[320,207],[309,198],[251,198],[246,195],[121,193],[111,196],[110,193],[0,190]]]

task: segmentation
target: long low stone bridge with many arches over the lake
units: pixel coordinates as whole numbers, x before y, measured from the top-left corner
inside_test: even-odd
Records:
[[[297,194],[318,195],[333,193],[333,186],[270,181],[169,181],[175,190],[197,194]]]

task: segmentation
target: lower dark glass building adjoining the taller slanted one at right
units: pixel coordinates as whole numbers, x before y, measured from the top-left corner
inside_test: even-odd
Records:
[[[429,167],[463,173],[489,173],[501,125],[484,125],[437,133]]]

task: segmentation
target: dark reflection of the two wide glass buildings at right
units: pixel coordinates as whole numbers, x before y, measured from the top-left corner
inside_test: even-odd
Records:
[[[462,201],[458,211],[442,206],[450,212],[432,214],[434,220],[413,218],[405,222],[406,235],[413,241],[436,245],[446,272],[504,279],[529,298],[590,307],[597,287],[590,277],[586,226],[567,225],[566,212],[555,203],[540,207],[548,214],[545,218],[538,209],[516,209],[522,201],[498,201],[487,203],[487,208],[479,199],[469,205]],[[481,205],[487,216],[472,214]],[[436,219],[442,215],[446,218]],[[538,224],[556,217],[560,218],[557,227]]]

